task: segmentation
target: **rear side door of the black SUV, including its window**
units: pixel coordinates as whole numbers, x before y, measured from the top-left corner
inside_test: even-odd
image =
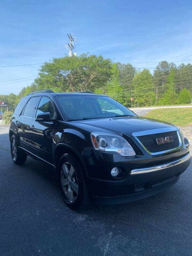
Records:
[[[31,140],[33,133],[33,124],[35,120],[34,115],[39,100],[39,96],[30,98],[21,115],[19,116],[17,122],[20,146],[32,153],[34,151],[34,143]]]

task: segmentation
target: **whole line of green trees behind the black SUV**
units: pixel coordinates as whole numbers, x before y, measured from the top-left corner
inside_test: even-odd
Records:
[[[137,70],[131,64],[114,63],[102,56],[53,58],[45,62],[34,83],[18,95],[0,95],[13,110],[30,92],[51,89],[54,92],[92,91],[108,95],[126,107],[189,104],[192,100],[192,65],[161,61],[153,74],[147,68]]]

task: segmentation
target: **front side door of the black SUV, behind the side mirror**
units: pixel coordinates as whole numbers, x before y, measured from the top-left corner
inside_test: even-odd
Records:
[[[42,96],[38,107],[36,108],[35,117],[40,113],[49,112],[51,119],[56,119],[55,109],[52,100],[47,96]],[[30,134],[33,141],[33,153],[44,161],[52,164],[52,138],[55,123],[40,122],[33,119],[32,132]]]

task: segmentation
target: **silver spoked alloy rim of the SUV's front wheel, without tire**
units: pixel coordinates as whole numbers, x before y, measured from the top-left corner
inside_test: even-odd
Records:
[[[78,196],[78,181],[72,164],[65,162],[62,165],[60,178],[65,196],[69,201],[75,201]]]

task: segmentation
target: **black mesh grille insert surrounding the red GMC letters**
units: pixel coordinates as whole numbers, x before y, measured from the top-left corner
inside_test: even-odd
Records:
[[[169,143],[164,143],[158,145],[156,143],[157,138],[162,138],[162,137],[168,137],[172,136],[172,139],[174,140],[173,142]],[[164,150],[169,150],[173,148],[179,147],[180,141],[179,137],[177,134],[177,131],[171,131],[171,132],[161,132],[161,133],[156,133],[156,134],[149,134],[149,135],[143,135],[143,136],[138,136],[137,137],[140,142],[143,144],[145,148],[151,153],[156,153]]]

